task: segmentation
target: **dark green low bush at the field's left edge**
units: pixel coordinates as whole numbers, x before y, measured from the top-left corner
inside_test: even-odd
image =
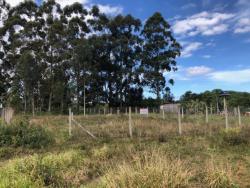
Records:
[[[40,149],[47,147],[53,141],[51,134],[41,126],[31,126],[23,122],[0,126],[0,146]]]

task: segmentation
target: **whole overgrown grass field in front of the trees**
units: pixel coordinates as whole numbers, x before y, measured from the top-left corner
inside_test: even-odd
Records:
[[[221,116],[188,116],[180,136],[176,115],[133,115],[132,139],[125,115],[74,119],[97,139],[76,126],[69,137],[68,116],[16,117],[27,134],[2,129],[0,187],[250,187],[249,117],[225,131]]]

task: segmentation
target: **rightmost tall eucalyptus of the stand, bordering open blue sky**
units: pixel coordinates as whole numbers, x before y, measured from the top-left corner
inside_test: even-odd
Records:
[[[166,87],[164,74],[176,71],[176,57],[180,56],[180,44],[173,37],[168,22],[156,12],[145,23],[141,33],[143,56],[141,67],[145,86],[151,88],[160,99],[160,93]],[[169,80],[173,84],[173,80]]]

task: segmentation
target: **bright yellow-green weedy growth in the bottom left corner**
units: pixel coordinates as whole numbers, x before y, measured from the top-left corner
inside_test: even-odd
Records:
[[[75,151],[11,160],[0,170],[0,187],[68,187],[64,173],[82,161]]]

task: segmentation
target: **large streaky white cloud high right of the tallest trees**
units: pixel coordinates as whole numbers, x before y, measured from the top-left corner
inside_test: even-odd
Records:
[[[178,20],[173,25],[174,33],[185,36],[195,35],[217,35],[228,30],[229,19],[234,14],[217,13],[217,12],[201,12],[184,20]]]

